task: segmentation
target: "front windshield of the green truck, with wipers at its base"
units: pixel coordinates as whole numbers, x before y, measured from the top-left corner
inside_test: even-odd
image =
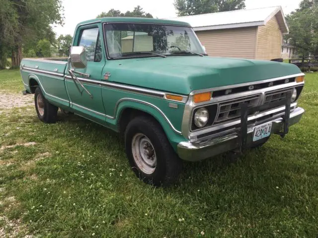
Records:
[[[111,23],[105,24],[105,33],[110,58],[206,54],[190,27]]]

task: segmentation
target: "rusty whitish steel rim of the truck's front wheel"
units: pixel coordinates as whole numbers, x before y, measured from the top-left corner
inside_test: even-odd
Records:
[[[142,133],[137,133],[133,137],[131,148],[138,168],[147,175],[154,173],[157,156],[150,139]]]

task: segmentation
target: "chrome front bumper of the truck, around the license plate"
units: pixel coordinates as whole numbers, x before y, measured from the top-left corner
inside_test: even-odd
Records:
[[[296,108],[293,112],[290,113],[289,117],[289,126],[296,124],[300,121],[305,110],[302,108]],[[271,134],[278,133],[281,131],[282,127],[284,126],[284,120],[282,117],[275,118],[275,119],[268,119],[266,122],[272,122],[272,129]],[[263,123],[262,122],[262,123]],[[253,131],[255,126],[248,127],[247,129],[247,137],[246,137],[246,144],[253,145],[257,144],[253,142]],[[183,160],[187,161],[200,161],[204,160],[218,154],[232,151],[240,146],[240,133],[239,128],[228,130],[221,132],[214,137],[209,139],[205,139],[202,141],[195,141],[195,142],[180,142],[178,144],[177,153],[179,157]]]

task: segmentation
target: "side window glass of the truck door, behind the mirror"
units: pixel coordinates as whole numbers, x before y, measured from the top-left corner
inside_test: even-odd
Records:
[[[81,32],[79,46],[86,50],[86,60],[99,62],[102,59],[102,47],[98,28],[85,29]]]

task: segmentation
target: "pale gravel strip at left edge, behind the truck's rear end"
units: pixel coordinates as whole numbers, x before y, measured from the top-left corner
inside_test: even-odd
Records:
[[[12,93],[0,94],[0,109],[21,108],[34,105],[32,94],[20,95]],[[0,114],[3,110],[0,110]]]

